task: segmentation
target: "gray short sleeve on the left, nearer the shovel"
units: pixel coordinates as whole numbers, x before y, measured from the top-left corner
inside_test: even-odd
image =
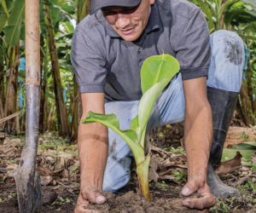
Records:
[[[80,93],[104,92],[106,60],[96,43],[79,28],[73,35],[71,62]]]

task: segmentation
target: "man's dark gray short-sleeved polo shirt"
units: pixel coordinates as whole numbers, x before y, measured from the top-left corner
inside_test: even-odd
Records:
[[[207,76],[211,50],[201,9],[183,0],[156,0],[136,42],[119,37],[99,10],[77,26],[71,60],[80,93],[104,92],[107,101],[133,101],[142,96],[143,60],[163,53],[177,58],[183,80]]]

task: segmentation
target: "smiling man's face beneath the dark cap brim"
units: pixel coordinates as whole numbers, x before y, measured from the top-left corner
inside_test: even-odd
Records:
[[[148,24],[150,6],[155,0],[142,0],[134,8],[106,7],[102,9],[105,19],[125,41],[135,41]]]

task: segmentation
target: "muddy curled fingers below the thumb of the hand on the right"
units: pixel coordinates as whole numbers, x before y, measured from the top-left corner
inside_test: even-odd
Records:
[[[203,195],[199,199],[185,199],[183,205],[189,207],[189,209],[204,210],[212,207],[215,204],[215,199],[211,193]]]

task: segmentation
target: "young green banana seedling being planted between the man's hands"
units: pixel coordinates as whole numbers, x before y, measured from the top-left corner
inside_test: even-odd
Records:
[[[84,124],[100,123],[118,135],[120,135],[128,146],[137,164],[137,176],[143,197],[149,201],[148,168],[150,155],[145,155],[144,141],[148,119],[163,89],[177,74],[180,67],[171,55],[154,55],[143,62],[141,70],[141,87],[143,97],[139,103],[138,114],[131,120],[130,130],[120,130],[119,120],[114,114],[99,114],[89,112]]]

